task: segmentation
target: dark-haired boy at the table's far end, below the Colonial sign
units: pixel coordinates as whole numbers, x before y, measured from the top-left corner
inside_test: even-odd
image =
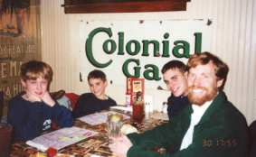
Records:
[[[108,81],[103,71],[94,69],[90,71],[87,79],[90,93],[84,93],[78,98],[73,110],[74,118],[109,109],[110,106],[117,106],[116,101],[105,93]]]

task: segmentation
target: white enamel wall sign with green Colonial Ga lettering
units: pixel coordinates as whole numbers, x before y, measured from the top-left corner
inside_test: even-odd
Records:
[[[213,26],[207,20],[111,22],[110,18],[81,20],[81,68],[102,69],[116,85],[135,77],[145,78],[146,88],[156,88],[167,61],[186,61],[194,52],[210,50]]]

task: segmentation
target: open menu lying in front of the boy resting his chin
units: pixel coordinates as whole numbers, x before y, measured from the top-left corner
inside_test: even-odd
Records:
[[[33,146],[43,152],[45,152],[50,147],[56,150],[60,150],[68,145],[78,143],[81,140],[89,138],[95,134],[98,133],[76,126],[65,127],[48,134],[38,136],[33,140],[27,141],[26,144]]]

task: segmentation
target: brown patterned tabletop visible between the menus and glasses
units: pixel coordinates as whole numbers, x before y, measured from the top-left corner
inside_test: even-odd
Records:
[[[164,120],[148,118],[142,124],[134,124],[128,120],[126,123],[135,125],[139,132],[154,128],[156,125],[166,123]],[[109,150],[109,137],[107,135],[106,124],[101,125],[88,125],[80,120],[76,119],[74,122],[75,126],[86,128],[89,130],[97,131],[100,134],[87,138],[79,143],[71,144],[58,152],[64,154],[70,154],[75,157],[89,157],[90,154],[98,154],[100,156],[113,156]],[[25,143],[14,143],[11,148],[10,157],[33,157],[36,152],[35,148]]]

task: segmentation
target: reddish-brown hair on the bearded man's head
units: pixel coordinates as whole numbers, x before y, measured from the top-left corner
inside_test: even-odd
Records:
[[[227,66],[226,63],[223,62],[223,60],[219,59],[217,56],[213,55],[212,53],[208,51],[204,51],[202,53],[197,53],[192,55],[187,62],[187,69],[189,70],[198,65],[208,64],[210,61],[212,61],[215,66],[214,71],[218,80],[223,79],[223,85],[219,87],[219,90],[223,90],[227,76],[228,76],[229,67]]]

